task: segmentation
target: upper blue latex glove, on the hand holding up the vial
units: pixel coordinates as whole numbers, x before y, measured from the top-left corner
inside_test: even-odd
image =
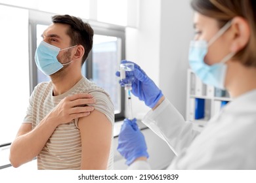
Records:
[[[133,63],[132,61],[122,60],[121,63]],[[163,96],[161,90],[156,86],[156,84],[146,75],[146,73],[140,69],[139,65],[134,63],[135,70],[133,71],[133,76],[126,76],[127,77],[134,77],[132,83],[132,90],[131,93],[138,97],[141,101],[150,107],[153,108],[156,106],[160,98]],[[116,72],[116,76],[120,76],[120,72]],[[119,84],[121,86],[125,85],[125,79],[119,80]]]

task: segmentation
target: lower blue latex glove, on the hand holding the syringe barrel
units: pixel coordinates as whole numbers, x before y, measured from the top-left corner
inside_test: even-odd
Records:
[[[126,164],[131,165],[135,159],[148,158],[146,141],[137,125],[137,119],[125,118],[118,138],[117,150],[126,159]]]

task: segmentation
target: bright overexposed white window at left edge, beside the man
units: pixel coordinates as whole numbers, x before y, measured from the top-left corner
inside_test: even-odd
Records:
[[[12,142],[28,107],[28,10],[0,5],[0,24],[1,145]]]

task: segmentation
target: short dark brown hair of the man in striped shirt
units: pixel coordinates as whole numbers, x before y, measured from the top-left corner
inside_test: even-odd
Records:
[[[81,63],[81,65],[83,65],[85,59],[88,57],[89,52],[93,48],[94,31],[91,25],[83,22],[81,18],[70,16],[68,14],[55,15],[52,17],[52,22],[70,25],[70,28],[67,32],[68,36],[71,38],[70,46],[81,44],[85,49],[85,54],[83,55]]]

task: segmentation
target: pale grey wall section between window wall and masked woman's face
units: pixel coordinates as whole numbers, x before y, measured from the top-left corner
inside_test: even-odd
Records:
[[[188,46],[193,38],[190,1],[161,1],[160,88],[186,115],[186,71]]]

